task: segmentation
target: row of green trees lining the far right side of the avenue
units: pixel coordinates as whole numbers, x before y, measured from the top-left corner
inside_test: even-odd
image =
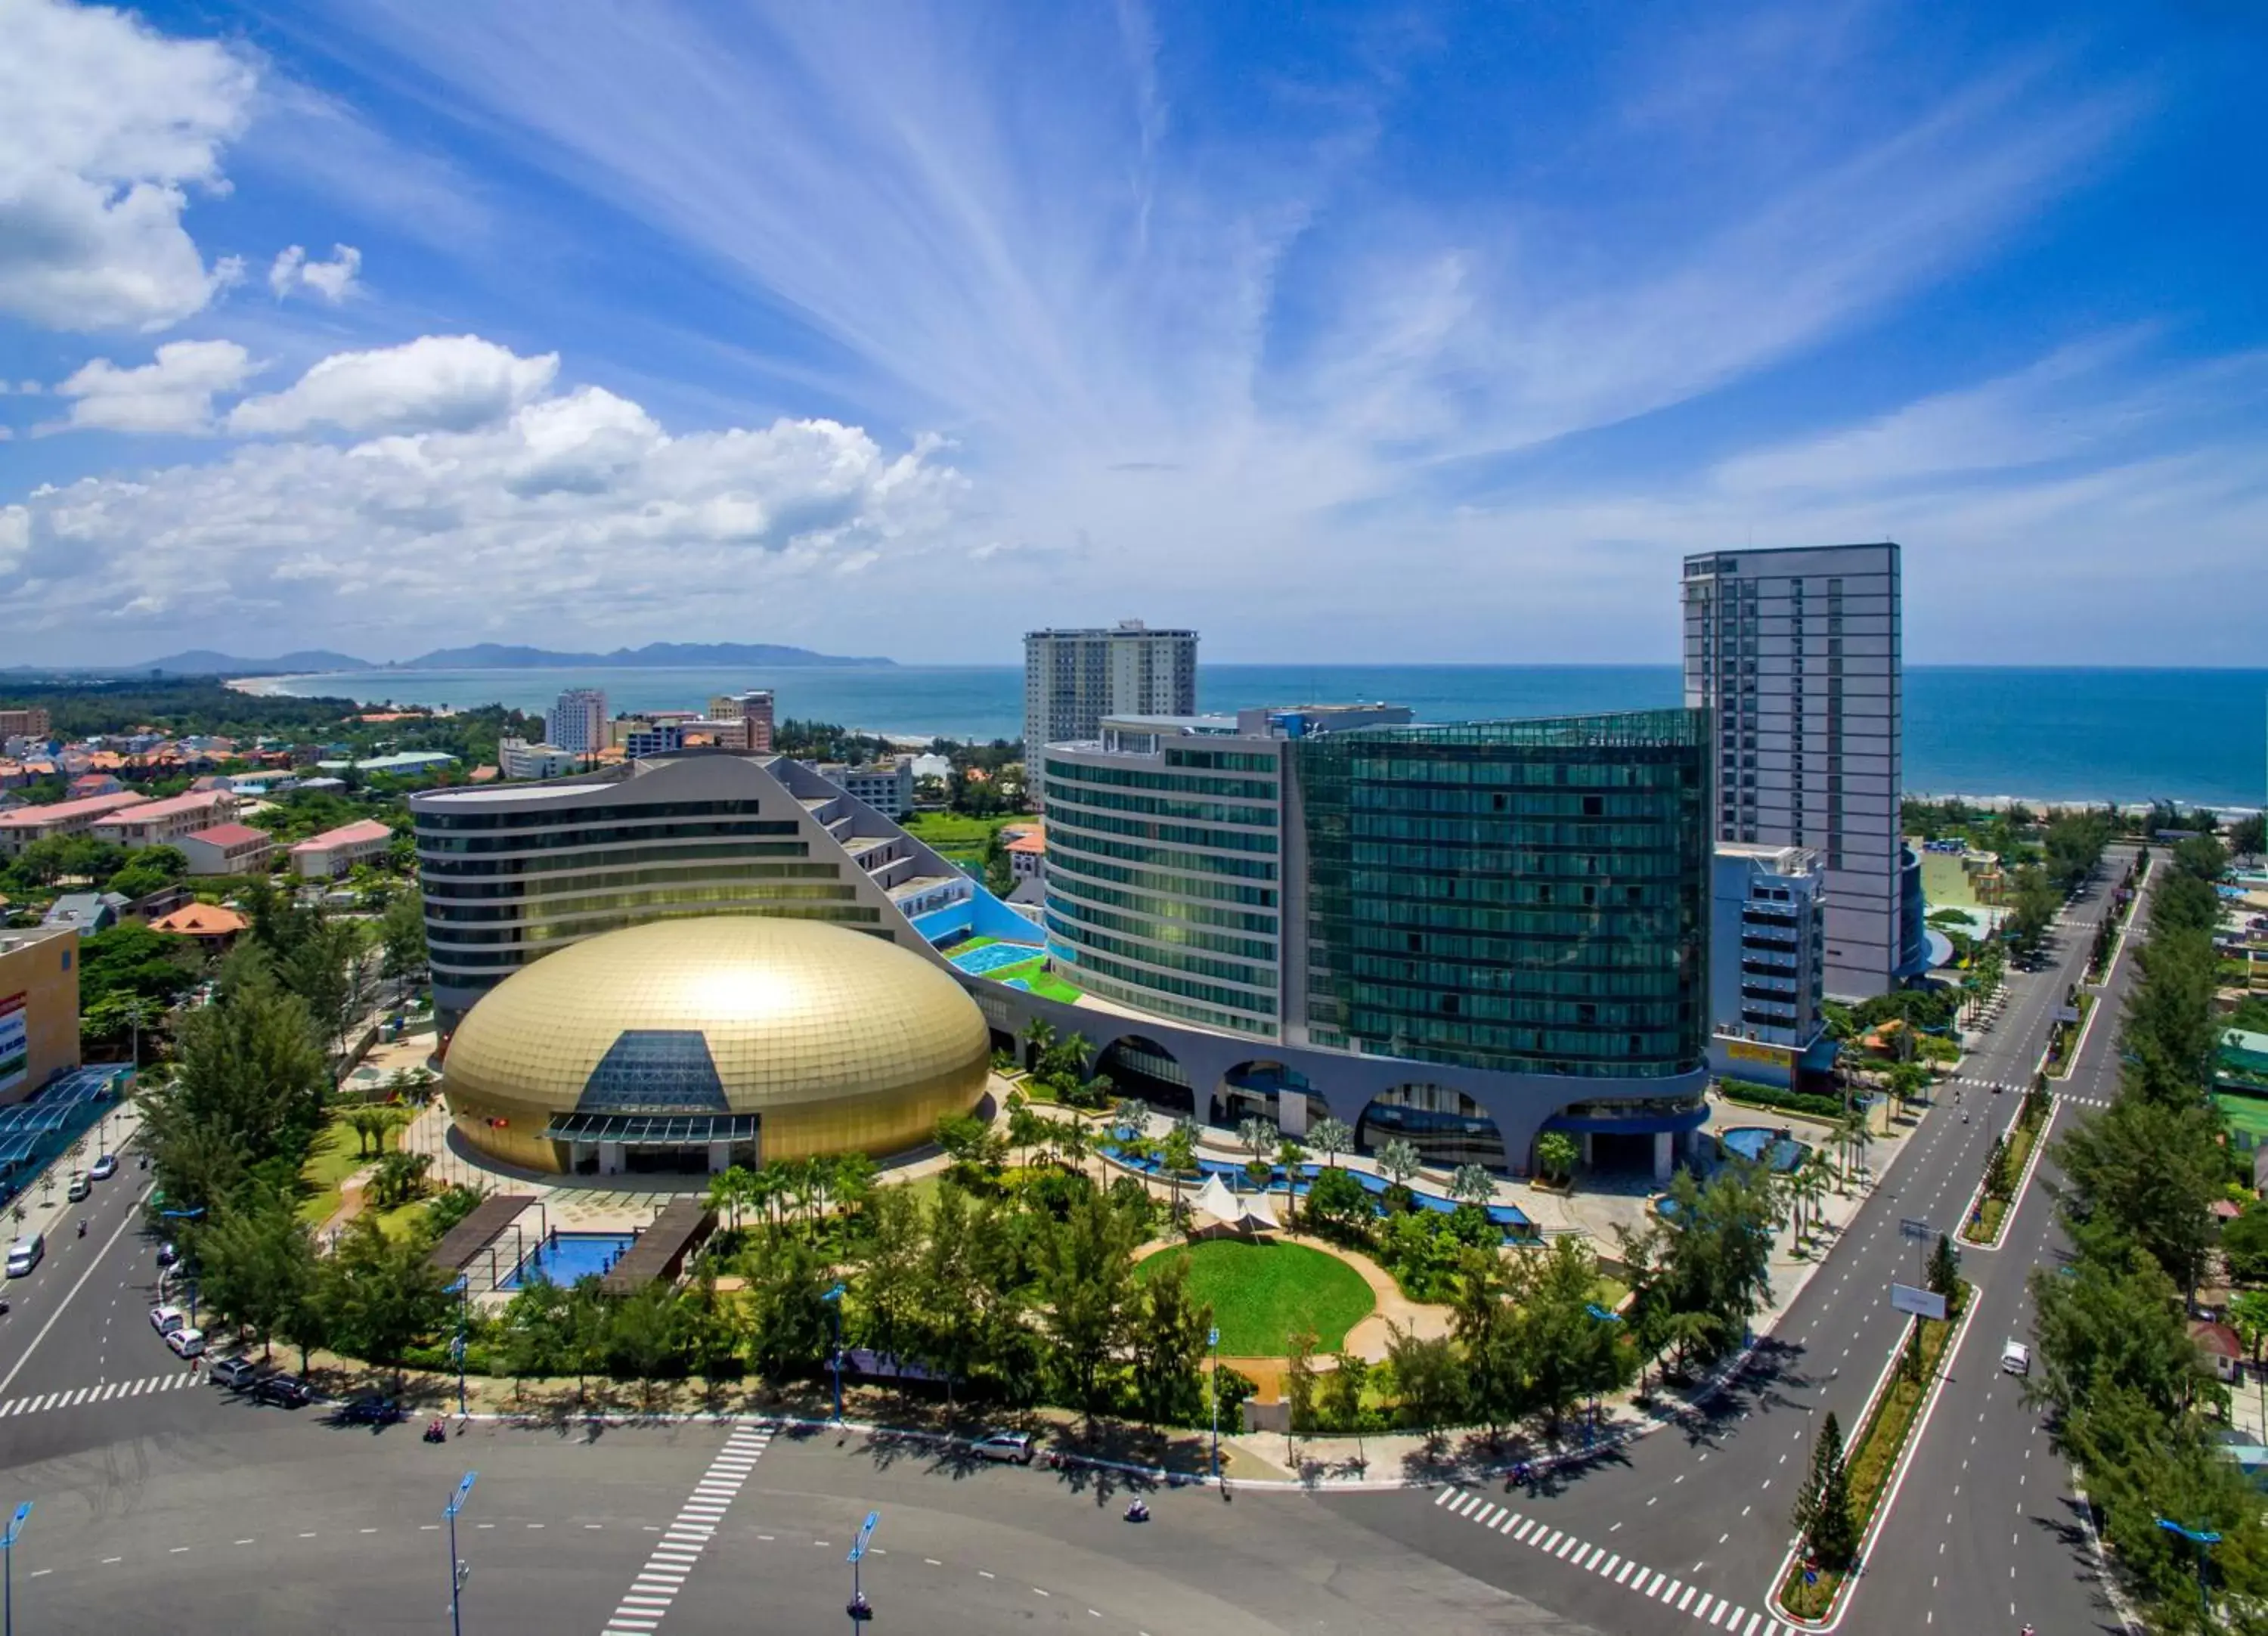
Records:
[[[2216,1443],[2223,1389],[2202,1373],[2186,1330],[2189,1296],[2214,1250],[2209,1205],[2227,1178],[2209,1105],[2223,867],[2211,837],[2180,842],[2150,896],[2118,1096],[2053,1148],[2077,1253],[2068,1268],[2039,1268],[2030,1280],[2032,1391],[2055,1409],[2057,1443],[2084,1468],[2105,1538],[2164,1631],[2216,1620],[2268,1627],[2259,1493]],[[2214,1595],[2200,1600],[2193,1548],[2159,1518],[2220,1534]]]

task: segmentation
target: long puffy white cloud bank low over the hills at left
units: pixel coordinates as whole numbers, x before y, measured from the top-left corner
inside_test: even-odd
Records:
[[[962,501],[930,442],[889,454],[830,420],[669,436],[637,404],[578,388],[472,429],[254,442],[209,465],[41,488],[0,513],[0,601],[25,635],[293,619],[376,622],[383,647],[569,629],[728,638],[751,597],[785,629],[796,599],[839,597],[826,583],[841,570],[941,545]]]

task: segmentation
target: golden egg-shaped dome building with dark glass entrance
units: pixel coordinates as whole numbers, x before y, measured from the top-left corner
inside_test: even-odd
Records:
[[[531,1171],[721,1171],[903,1153],[984,1096],[991,1037],[962,987],[880,937],[719,914],[560,948],[449,1039],[465,1141]]]

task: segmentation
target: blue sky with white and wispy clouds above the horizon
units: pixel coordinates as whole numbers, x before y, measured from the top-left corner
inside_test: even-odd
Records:
[[[0,665],[2257,665],[2250,16],[0,0]]]

